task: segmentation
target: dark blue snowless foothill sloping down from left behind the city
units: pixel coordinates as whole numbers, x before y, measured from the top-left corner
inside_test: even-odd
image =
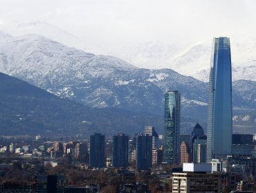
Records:
[[[102,132],[143,132],[144,125],[163,127],[161,117],[111,108],[89,108],[0,72],[2,135],[74,136]],[[154,119],[152,119],[154,117]]]

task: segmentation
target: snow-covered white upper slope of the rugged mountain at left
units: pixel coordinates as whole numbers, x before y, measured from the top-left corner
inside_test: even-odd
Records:
[[[113,70],[136,68],[115,57],[94,55],[68,48],[66,45],[35,34],[11,37],[0,44],[0,50],[1,72],[16,77],[26,76],[36,84],[53,72],[68,74],[70,68],[76,70],[73,76],[78,79],[84,77],[83,74],[97,77],[102,74],[107,75]],[[102,68],[96,68],[99,65],[102,65]]]

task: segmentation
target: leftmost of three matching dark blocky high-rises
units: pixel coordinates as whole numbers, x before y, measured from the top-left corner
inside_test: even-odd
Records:
[[[90,136],[89,165],[91,167],[104,167],[105,165],[105,136],[100,133]]]

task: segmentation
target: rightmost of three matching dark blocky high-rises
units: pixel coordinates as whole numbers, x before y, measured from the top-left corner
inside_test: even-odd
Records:
[[[136,169],[148,170],[152,166],[152,136],[140,134],[136,141]]]

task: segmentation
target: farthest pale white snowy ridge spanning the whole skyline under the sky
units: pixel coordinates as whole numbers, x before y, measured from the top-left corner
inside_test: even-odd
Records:
[[[120,45],[116,50],[95,48],[75,35],[44,21],[19,23],[6,21],[0,23],[0,30],[13,36],[40,34],[79,50],[107,54],[118,57],[138,68],[169,68],[180,74],[208,82],[212,39],[201,39],[191,45],[168,44],[161,41],[145,41],[136,45]],[[232,79],[256,81],[256,37],[237,35],[230,37],[232,54]]]

